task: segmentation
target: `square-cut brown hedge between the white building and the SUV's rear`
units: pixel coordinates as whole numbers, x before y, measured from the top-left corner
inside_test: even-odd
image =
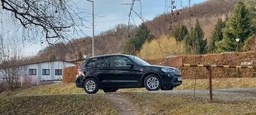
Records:
[[[77,75],[78,66],[64,68],[62,83],[75,83],[75,76]]]

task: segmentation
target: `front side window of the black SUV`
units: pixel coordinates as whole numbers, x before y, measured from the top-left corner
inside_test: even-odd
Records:
[[[113,56],[111,61],[112,67],[127,66],[127,63],[131,63],[125,56]]]

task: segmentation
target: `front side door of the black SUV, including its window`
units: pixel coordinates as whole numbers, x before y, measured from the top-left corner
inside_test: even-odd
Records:
[[[111,82],[119,87],[136,87],[140,85],[139,71],[126,56],[111,56]]]

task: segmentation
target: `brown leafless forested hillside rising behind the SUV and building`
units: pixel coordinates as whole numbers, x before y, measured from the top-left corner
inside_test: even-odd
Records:
[[[161,14],[149,22],[145,22],[154,39],[160,38],[160,35],[169,36],[175,24],[183,23],[190,29],[195,20],[199,20],[203,27],[205,38],[212,35],[215,23],[218,18],[225,18],[233,10],[235,0],[210,0],[191,8],[182,8],[176,11],[170,11],[168,14]],[[106,32],[102,32],[95,37],[96,55],[108,53],[121,53],[125,42],[136,35],[137,26],[126,26],[120,24],[114,26]],[[83,55],[91,56],[91,38],[77,38],[68,43],[58,43],[41,50],[37,56],[31,57],[30,61],[49,60],[49,59],[82,59]]]

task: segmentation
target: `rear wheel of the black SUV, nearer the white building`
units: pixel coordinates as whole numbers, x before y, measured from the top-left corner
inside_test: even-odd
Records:
[[[95,78],[88,78],[84,82],[84,91],[88,94],[95,94],[99,91],[99,83]]]

